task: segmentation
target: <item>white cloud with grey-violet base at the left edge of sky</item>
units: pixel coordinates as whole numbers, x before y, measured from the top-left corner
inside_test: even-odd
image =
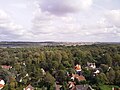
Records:
[[[1,40],[20,40],[28,35],[21,25],[15,24],[10,16],[3,10],[0,10],[0,39]]]

